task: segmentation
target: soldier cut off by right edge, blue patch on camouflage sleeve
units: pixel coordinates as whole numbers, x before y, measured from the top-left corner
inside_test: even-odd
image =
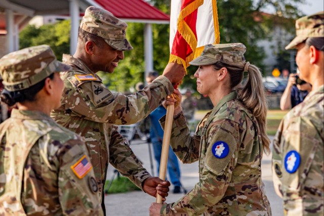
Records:
[[[305,100],[282,119],[273,140],[272,172],[285,215],[324,214],[324,12],[296,21],[299,77],[312,84]]]

